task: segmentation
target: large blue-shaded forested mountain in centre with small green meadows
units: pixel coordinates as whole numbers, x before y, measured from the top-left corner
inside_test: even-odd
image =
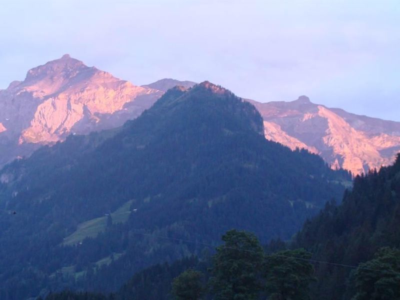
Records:
[[[169,90],[120,128],[70,135],[8,164],[0,173],[0,298],[115,290],[232,227],[263,241],[290,237],[340,198],[348,173],[262,133],[254,106],[203,82]]]

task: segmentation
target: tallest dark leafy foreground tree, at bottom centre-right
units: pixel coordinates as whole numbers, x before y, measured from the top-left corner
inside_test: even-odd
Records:
[[[232,229],[222,240],[224,244],[212,257],[210,284],[214,299],[255,299],[261,287],[258,278],[263,260],[258,239],[252,233]]]

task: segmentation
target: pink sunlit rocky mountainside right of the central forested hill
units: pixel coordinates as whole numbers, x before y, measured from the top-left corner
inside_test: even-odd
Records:
[[[327,108],[300,96],[291,102],[252,102],[264,119],[267,139],[321,155],[332,168],[365,173],[394,161],[400,122]]]

